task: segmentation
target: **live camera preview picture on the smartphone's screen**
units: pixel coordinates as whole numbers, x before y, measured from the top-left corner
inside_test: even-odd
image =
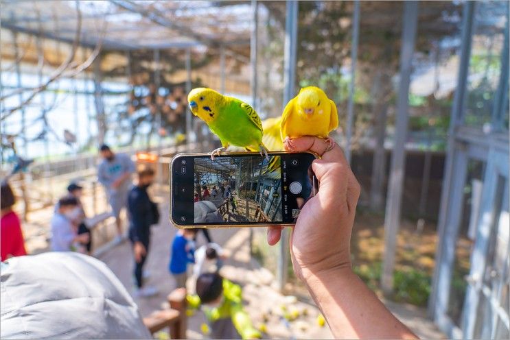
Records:
[[[194,223],[281,222],[281,156],[194,160]]]

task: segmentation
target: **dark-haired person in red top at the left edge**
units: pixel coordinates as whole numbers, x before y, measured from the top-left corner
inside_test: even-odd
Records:
[[[21,224],[12,206],[16,199],[7,182],[2,182],[0,191],[0,253],[2,262],[12,256],[23,256],[27,254],[23,241]]]

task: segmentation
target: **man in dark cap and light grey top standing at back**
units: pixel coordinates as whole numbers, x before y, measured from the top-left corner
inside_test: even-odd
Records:
[[[108,145],[101,145],[100,154],[103,161],[97,169],[97,178],[106,190],[108,203],[112,208],[117,225],[116,243],[122,240],[122,221],[120,213],[128,203],[131,174],[135,172],[135,163],[126,154],[114,154]]]

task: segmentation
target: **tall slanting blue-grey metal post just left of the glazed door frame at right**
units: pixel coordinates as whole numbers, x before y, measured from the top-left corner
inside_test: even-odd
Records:
[[[443,187],[441,189],[441,210],[439,211],[439,222],[437,224],[439,245],[436,251],[436,261],[438,265],[434,269],[434,278],[432,280],[432,295],[430,295],[428,311],[435,321],[440,321],[440,317],[445,315],[448,310],[448,299],[450,293],[451,273],[454,258],[452,257],[452,244],[455,239],[448,239],[448,235],[453,235],[452,229],[457,228],[447,223],[448,212],[451,210],[449,206],[450,196],[457,195],[452,191],[456,188],[456,180],[459,174],[454,172],[454,161],[458,158],[458,154],[463,152],[456,147],[456,128],[463,121],[463,101],[467,88],[467,73],[469,71],[469,61],[471,58],[471,45],[473,34],[474,11],[476,7],[475,1],[466,1],[463,10],[463,27],[461,42],[461,62],[459,64],[459,75],[457,77],[457,86],[452,105],[452,118],[450,119],[450,130],[448,132],[448,150],[446,153],[446,164],[443,176]],[[461,169],[461,168],[459,168]],[[450,231],[448,230],[450,229]],[[451,258],[450,258],[451,257]]]

